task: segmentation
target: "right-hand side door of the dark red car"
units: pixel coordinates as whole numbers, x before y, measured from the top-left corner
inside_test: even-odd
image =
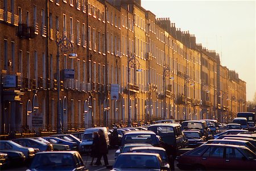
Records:
[[[251,170],[250,160],[243,160],[245,157],[238,149],[227,147],[225,150],[224,170]]]

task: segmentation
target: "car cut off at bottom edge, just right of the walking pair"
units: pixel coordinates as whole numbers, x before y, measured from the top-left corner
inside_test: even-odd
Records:
[[[113,165],[114,170],[169,170],[156,153],[122,153]]]

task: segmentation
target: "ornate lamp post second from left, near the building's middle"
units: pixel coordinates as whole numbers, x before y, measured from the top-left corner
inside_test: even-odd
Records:
[[[139,60],[135,58],[134,55],[128,55],[127,59],[127,90],[128,90],[128,121],[127,121],[127,126],[131,126],[131,104],[130,104],[130,66],[136,68],[136,66],[139,66]],[[141,72],[141,69],[136,70],[137,72]]]

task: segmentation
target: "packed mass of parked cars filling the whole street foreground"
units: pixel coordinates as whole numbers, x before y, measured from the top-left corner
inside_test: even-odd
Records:
[[[233,122],[246,117],[234,118]],[[231,125],[229,123],[228,125]],[[236,123],[237,125],[240,123]],[[255,170],[254,127],[213,119],[0,140],[1,170]],[[81,138],[81,139],[80,139]]]

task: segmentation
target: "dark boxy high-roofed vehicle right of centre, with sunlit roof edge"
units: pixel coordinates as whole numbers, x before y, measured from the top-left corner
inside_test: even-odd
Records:
[[[161,137],[162,146],[166,149],[168,156],[176,156],[177,149],[188,147],[188,140],[181,132],[181,126],[177,123],[156,123],[150,125],[148,130]]]

